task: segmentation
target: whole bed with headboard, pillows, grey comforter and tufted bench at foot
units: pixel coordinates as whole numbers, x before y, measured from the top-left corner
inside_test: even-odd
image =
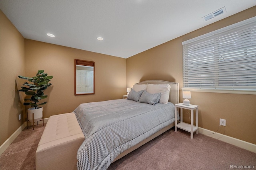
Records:
[[[134,84],[127,99],[84,103],[72,113],[51,116],[36,151],[36,169],[106,170],[174,127],[178,103],[178,83],[146,80]]]

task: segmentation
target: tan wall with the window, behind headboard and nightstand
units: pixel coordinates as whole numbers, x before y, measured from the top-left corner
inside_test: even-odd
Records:
[[[158,79],[178,82],[182,87],[182,41],[256,16],[255,11],[256,6],[128,58],[127,86]],[[191,95],[190,103],[199,105],[199,127],[217,131],[220,118],[226,119],[226,127],[220,127],[218,133],[256,144],[256,95],[205,92]],[[189,121],[189,114],[184,114],[184,120]]]

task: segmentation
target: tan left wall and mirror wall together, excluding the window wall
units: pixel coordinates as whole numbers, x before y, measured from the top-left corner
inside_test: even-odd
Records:
[[[0,145],[26,121],[15,81],[18,75],[35,76],[38,70],[45,70],[54,76],[52,86],[45,90],[49,97],[42,100],[48,102],[43,106],[44,117],[126,94],[126,59],[24,39],[2,11],[0,49]],[[74,95],[74,59],[95,62],[95,94]]]

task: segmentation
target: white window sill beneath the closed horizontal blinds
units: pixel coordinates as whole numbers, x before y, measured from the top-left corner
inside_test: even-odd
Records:
[[[231,93],[231,94],[252,94],[256,95],[256,90],[227,90],[227,89],[200,89],[200,88],[181,88],[182,91],[208,92],[208,93]]]

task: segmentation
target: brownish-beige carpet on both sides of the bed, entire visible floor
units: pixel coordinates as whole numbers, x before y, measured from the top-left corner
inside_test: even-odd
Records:
[[[0,156],[0,170],[35,170],[35,152],[44,127],[24,129]],[[256,153],[206,135],[170,129],[112,163],[108,170],[230,170],[254,166]],[[242,168],[246,169],[246,168]]]

